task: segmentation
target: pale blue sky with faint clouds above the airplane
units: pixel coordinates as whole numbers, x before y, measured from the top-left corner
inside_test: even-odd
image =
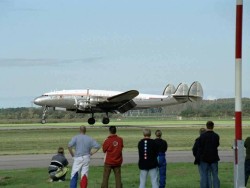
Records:
[[[236,0],[1,0],[0,108],[63,89],[162,94],[199,81],[235,97]],[[242,97],[250,97],[250,2]]]

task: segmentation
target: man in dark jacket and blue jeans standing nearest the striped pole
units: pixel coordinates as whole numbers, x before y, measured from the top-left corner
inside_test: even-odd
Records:
[[[208,121],[206,127],[207,131],[200,135],[198,146],[201,170],[200,187],[207,188],[209,186],[207,177],[211,171],[213,188],[219,188],[218,161],[220,158],[218,155],[218,147],[220,145],[220,137],[213,131],[214,123],[212,121]]]

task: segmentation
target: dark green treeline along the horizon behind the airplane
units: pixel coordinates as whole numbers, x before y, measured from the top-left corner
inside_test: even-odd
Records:
[[[41,107],[20,107],[20,108],[2,108],[0,109],[0,123],[2,122],[37,122],[41,119],[43,108]],[[200,102],[187,102],[184,104],[167,106],[164,108],[151,108],[145,110],[131,110],[125,114],[115,114],[112,117],[145,117],[145,116],[164,116],[164,117],[218,117],[232,118],[235,113],[235,99],[217,99],[202,100]],[[95,114],[100,117],[102,114]],[[250,98],[242,99],[242,116],[250,117]],[[78,121],[88,118],[89,114],[77,114],[74,112],[49,110],[46,117],[50,122],[55,121]]]

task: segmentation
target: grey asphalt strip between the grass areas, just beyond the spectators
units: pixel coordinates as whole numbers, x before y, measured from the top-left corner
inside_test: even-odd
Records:
[[[233,162],[234,154],[232,151],[219,151],[220,162]],[[46,168],[48,167],[52,154],[39,155],[3,155],[0,156],[0,170],[5,169],[25,169],[25,168]],[[72,157],[66,155],[69,164],[72,165]],[[91,157],[91,164],[103,165],[104,154],[99,151]],[[192,151],[168,151],[168,163],[193,162],[194,157]],[[123,152],[123,164],[133,164],[138,162],[137,152]]]

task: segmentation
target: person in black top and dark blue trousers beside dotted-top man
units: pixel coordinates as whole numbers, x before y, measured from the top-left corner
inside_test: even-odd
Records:
[[[167,172],[167,161],[166,152],[168,149],[168,144],[166,140],[161,138],[161,130],[155,131],[155,142],[158,147],[158,169],[159,169],[159,188],[165,188],[166,186],[166,172]]]

